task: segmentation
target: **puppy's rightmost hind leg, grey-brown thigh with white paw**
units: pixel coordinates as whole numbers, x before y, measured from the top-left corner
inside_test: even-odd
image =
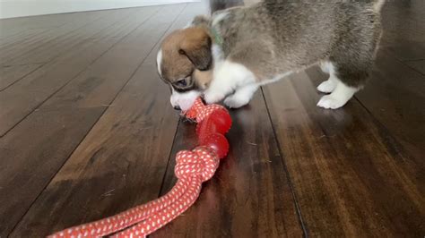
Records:
[[[334,65],[334,79],[338,82],[332,93],[322,97],[317,106],[332,109],[344,106],[363,87],[369,77],[381,32],[379,22],[378,14],[352,18],[347,22],[348,31],[335,42],[329,56]]]

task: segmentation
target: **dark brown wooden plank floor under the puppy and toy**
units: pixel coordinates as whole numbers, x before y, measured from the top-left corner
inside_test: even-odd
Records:
[[[155,67],[158,42],[209,4],[0,21],[0,237],[116,214],[175,183],[195,146]],[[317,67],[231,111],[230,155],[153,236],[425,235],[425,1],[388,1],[369,85],[316,106]]]

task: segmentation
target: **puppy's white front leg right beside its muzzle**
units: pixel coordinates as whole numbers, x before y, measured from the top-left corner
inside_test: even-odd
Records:
[[[239,87],[254,83],[256,78],[243,64],[225,60],[214,68],[210,87],[204,92],[205,102],[217,103]]]

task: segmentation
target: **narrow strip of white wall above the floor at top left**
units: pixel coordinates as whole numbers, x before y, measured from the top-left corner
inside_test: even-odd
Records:
[[[0,19],[73,13],[154,4],[178,4],[197,0],[0,0]]]

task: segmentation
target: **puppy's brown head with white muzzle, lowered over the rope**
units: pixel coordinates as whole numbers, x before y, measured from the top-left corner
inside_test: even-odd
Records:
[[[211,47],[212,39],[201,27],[176,30],[163,40],[158,72],[171,87],[174,108],[189,109],[212,80]]]

